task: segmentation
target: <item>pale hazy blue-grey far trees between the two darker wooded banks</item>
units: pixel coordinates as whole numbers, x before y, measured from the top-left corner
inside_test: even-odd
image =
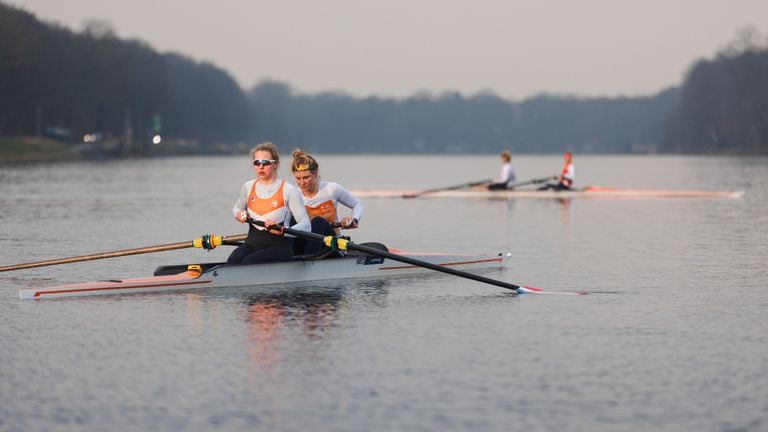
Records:
[[[311,151],[623,153],[657,147],[678,93],[613,99],[541,95],[520,103],[492,93],[397,100],[296,95],[285,84],[265,82],[249,93],[249,101],[259,137]]]

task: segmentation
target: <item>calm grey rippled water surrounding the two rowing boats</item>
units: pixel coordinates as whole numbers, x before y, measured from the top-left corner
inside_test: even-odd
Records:
[[[321,156],[359,188],[495,156]],[[20,302],[19,288],[216,261],[180,250],[0,273],[2,431],[766,431],[768,159],[578,156],[577,184],[741,199],[367,200],[354,239],[509,251],[447,275]],[[513,159],[518,177],[557,156]],[[0,165],[0,265],[238,234],[247,157]],[[283,167],[281,174],[286,175]]]

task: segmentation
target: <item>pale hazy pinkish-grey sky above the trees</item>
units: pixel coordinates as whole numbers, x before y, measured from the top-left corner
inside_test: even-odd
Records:
[[[651,95],[739,30],[768,35],[768,0],[3,1],[77,31],[107,21],[244,89],[272,79],[356,96]]]

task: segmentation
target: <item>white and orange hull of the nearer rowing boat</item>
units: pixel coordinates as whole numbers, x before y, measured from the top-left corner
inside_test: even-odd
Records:
[[[401,255],[458,270],[501,268],[509,256],[416,254]],[[58,297],[78,297],[104,294],[129,294],[157,291],[199,290],[209,288],[273,285],[331,279],[389,277],[431,270],[383,258],[353,255],[345,258],[291,261],[253,265],[206,265],[205,270],[182,270],[179,273],[132,279],[112,279],[96,282],[60,285],[47,288],[19,290],[22,300]]]

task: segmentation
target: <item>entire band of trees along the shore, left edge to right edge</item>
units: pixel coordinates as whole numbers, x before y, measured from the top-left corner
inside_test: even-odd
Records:
[[[768,153],[765,76],[768,49],[749,43],[646,97],[357,98],[274,81],[244,91],[212,64],[121,40],[108,24],[73,32],[0,2],[0,136],[99,132],[134,152],[162,130],[200,152],[269,139],[324,153]]]

